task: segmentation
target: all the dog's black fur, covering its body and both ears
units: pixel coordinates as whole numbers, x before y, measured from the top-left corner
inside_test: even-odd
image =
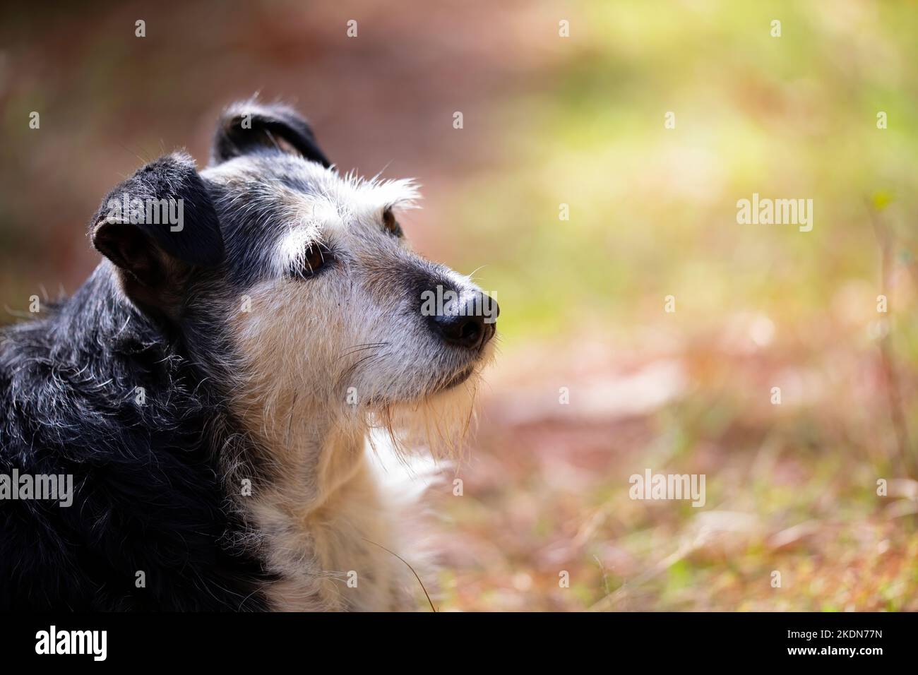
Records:
[[[253,112],[262,141],[279,136],[328,165],[288,108]],[[234,125],[219,126],[218,162],[268,152]],[[257,478],[259,449],[228,411],[233,356],[219,315],[257,240],[238,240],[247,217],[229,222],[234,202],[185,155],[148,164],[109,197],[126,192],[185,199],[184,231],[100,224],[106,198],[90,226],[114,264],[0,332],[0,473],[72,474],[74,491],[70,507],[0,501],[0,610],[261,610],[271,579],[233,499],[238,478]],[[132,267],[144,256],[164,261],[167,310],[148,302],[162,300],[162,278]]]

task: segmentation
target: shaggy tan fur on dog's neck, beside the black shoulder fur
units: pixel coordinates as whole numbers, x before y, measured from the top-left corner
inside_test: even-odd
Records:
[[[267,589],[281,610],[408,609],[410,569],[386,549],[399,542],[397,513],[377,482],[363,425],[296,391],[242,402],[245,425],[270,454],[271,476],[246,511],[263,534]]]

